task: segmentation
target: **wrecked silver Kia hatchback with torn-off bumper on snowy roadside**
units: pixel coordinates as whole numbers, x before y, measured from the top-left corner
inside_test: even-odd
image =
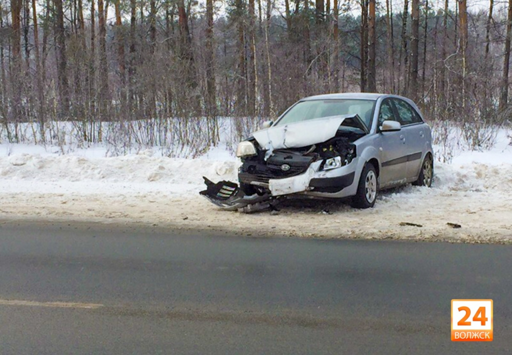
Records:
[[[304,98],[241,142],[240,185],[205,178],[201,194],[228,210],[261,209],[295,194],[375,204],[379,190],[430,186],[432,135],[417,106],[397,95]],[[261,207],[261,208],[260,208]]]

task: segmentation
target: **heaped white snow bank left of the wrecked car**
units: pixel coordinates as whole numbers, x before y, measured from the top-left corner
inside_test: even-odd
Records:
[[[15,147],[0,157],[3,194],[59,192],[63,194],[197,193],[202,176],[236,178],[237,160],[214,149],[202,159],[155,156],[152,150],[106,158],[98,150],[56,155],[33,147]]]

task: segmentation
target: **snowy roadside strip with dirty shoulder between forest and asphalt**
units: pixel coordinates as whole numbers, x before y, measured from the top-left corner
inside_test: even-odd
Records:
[[[450,164],[436,162],[431,189],[408,185],[382,192],[368,210],[297,199],[283,203],[279,214],[251,215],[221,211],[198,194],[202,176],[236,181],[239,162],[225,148],[180,159],[152,150],[105,157],[101,147],[62,155],[58,147],[0,144],[0,218],[144,223],[254,236],[512,242],[509,143],[500,131],[490,151],[459,152]]]

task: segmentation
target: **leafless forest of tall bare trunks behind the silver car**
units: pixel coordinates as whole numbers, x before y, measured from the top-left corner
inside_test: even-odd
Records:
[[[512,0],[0,0],[0,126],[54,120],[186,131],[275,117],[329,92],[409,96],[431,120],[506,119]],[[403,6],[401,6],[403,5]],[[147,128],[147,126],[151,126]],[[123,126],[124,127],[124,126]],[[155,142],[155,144],[158,142]]]

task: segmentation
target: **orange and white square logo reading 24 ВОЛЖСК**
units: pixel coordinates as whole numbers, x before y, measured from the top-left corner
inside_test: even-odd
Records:
[[[452,341],[493,341],[493,300],[452,300]]]

